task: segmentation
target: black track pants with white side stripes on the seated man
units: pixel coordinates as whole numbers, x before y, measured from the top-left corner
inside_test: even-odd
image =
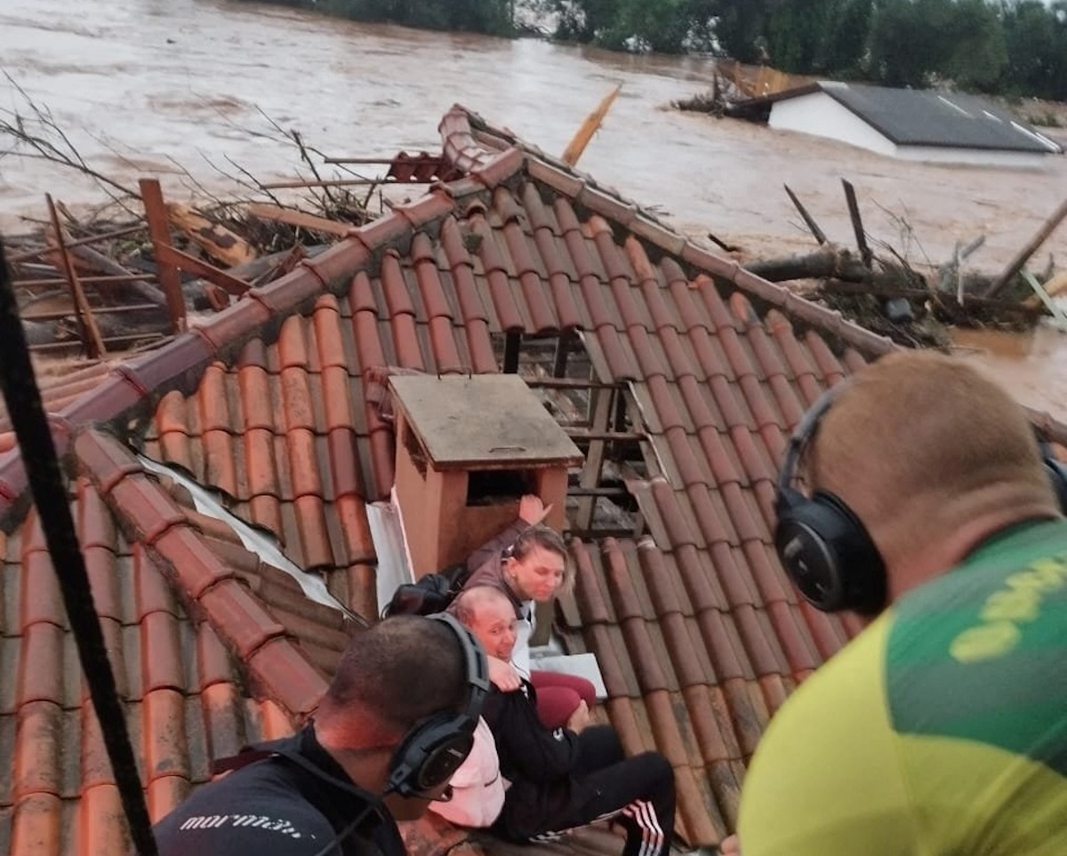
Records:
[[[595,726],[578,735],[574,778],[586,786],[580,790],[587,797],[531,840],[552,840],[611,818],[626,830],[623,856],[667,853],[674,830],[674,771],[666,758],[658,752],[626,758],[615,730]]]

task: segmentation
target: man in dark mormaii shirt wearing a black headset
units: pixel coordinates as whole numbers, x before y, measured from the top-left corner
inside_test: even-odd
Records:
[[[396,820],[447,798],[488,691],[451,616],[357,633],[314,720],[224,763],[155,828],[160,856],[404,856]]]

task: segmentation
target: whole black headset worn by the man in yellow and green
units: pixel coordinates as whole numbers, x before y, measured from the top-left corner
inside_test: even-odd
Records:
[[[793,487],[797,462],[848,383],[823,393],[790,438],[778,473],[775,549],[790,580],[813,606],[874,615],[886,605],[886,566],[866,527],[841,497],[824,490],[805,496]],[[1067,466],[1040,434],[1037,443],[1060,508],[1067,512]]]

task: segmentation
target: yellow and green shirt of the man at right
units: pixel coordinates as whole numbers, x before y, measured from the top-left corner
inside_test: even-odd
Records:
[[[744,856],[1067,856],[1067,521],[903,598],[775,716]]]

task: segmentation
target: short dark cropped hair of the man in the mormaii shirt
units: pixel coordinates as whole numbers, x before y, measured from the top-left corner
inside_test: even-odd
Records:
[[[421,616],[386,618],[356,633],[341,654],[323,704],[357,704],[382,723],[405,730],[466,698],[466,663],[456,633]]]

